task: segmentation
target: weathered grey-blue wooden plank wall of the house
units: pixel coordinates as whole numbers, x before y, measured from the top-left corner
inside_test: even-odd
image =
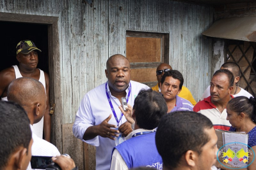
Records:
[[[213,20],[207,6],[169,0],[94,0],[92,7],[82,0],[0,0],[0,18],[1,12],[58,17],[60,56],[54,56],[54,67],[60,73],[51,74],[60,87],[54,94],[60,108],[56,128],[74,122],[84,94],[106,81],[108,57],[125,55],[127,30],[170,33],[170,65],[183,74],[196,101],[211,80],[212,43],[201,35]],[[60,151],[61,140],[53,141]]]

